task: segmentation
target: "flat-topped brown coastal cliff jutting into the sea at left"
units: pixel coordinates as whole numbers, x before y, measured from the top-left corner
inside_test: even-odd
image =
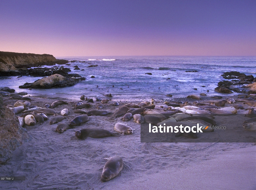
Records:
[[[66,64],[49,54],[25,54],[0,51],[0,76],[17,76],[27,72],[27,68],[40,65]]]

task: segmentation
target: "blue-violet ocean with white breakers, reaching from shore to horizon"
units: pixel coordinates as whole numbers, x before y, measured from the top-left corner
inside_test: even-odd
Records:
[[[214,88],[217,87],[219,81],[223,80],[220,75],[227,71],[238,71],[256,77],[256,57],[84,56],[56,58],[76,60],[76,62],[69,62],[70,66],[63,66],[70,68],[72,70],[70,73],[78,73],[86,77],[86,80],[66,88],[27,90],[19,89],[18,86],[26,82],[34,82],[42,77],[17,78],[15,76],[0,78],[0,86],[9,86],[16,92],[28,92],[33,97],[49,99],[79,100],[81,95],[104,98],[103,94],[111,93],[113,100],[148,100],[149,98],[168,99],[166,94],[172,94],[173,97],[186,97],[189,94],[199,95],[199,93],[206,93],[210,96],[219,95]],[[87,67],[89,65],[98,66]],[[84,71],[74,70],[73,66],[78,66]],[[186,72],[195,70],[197,72]],[[152,73],[152,75],[145,73]]]

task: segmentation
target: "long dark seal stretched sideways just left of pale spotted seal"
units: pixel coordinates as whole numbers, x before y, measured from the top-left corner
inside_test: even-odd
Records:
[[[76,131],[75,136],[80,139],[85,139],[86,137],[103,138],[103,137],[108,137],[108,136],[120,136],[120,134],[112,133],[106,129],[85,128],[85,129]]]

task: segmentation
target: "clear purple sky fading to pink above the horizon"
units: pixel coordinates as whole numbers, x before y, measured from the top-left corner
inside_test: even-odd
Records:
[[[0,25],[0,51],[256,56],[256,0],[1,0]]]

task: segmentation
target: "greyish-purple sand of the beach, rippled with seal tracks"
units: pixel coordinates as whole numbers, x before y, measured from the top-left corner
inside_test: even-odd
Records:
[[[13,105],[17,101],[8,97],[3,98],[6,105]],[[40,107],[54,101],[42,98],[31,99],[31,105]],[[74,117],[81,115],[74,113],[72,109],[77,100],[67,102],[68,105],[53,108],[58,114],[64,108],[69,110],[67,118],[60,123],[69,123]],[[119,102],[119,106],[113,106],[111,103],[114,102],[105,104],[102,110],[114,112],[122,105],[130,103]],[[94,101],[89,109],[82,110],[96,109],[97,103],[99,102]],[[231,107],[231,104],[227,103],[225,107]],[[245,112],[245,110],[238,111],[238,113]],[[12,159],[0,167],[0,172],[4,176],[26,176],[26,181],[1,181],[0,187],[2,189],[254,189],[256,187],[253,177],[256,171],[255,142],[141,143],[140,124],[135,123],[133,119],[125,122],[119,118],[111,120],[110,116],[90,116],[90,120],[85,124],[68,129],[62,134],[55,132],[59,123],[49,124],[53,116],[49,116],[42,125],[24,126],[32,140],[14,150]],[[218,125],[226,124],[227,120],[222,118],[224,117],[215,117]],[[246,119],[248,117],[240,119],[240,130],[244,130],[242,121]],[[134,130],[133,134],[105,138],[87,137],[85,140],[74,136],[75,131],[90,127],[115,132],[114,125],[117,122],[128,124]],[[114,155],[121,156],[124,168],[114,179],[101,182],[102,168],[106,163],[104,158]]]

